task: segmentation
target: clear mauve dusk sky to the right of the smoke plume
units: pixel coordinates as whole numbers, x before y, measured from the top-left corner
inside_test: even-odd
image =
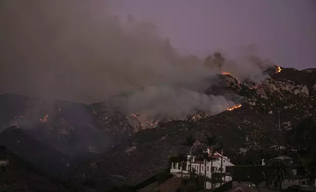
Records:
[[[116,12],[158,24],[181,52],[236,54],[255,44],[277,65],[316,67],[316,0],[121,0]]]

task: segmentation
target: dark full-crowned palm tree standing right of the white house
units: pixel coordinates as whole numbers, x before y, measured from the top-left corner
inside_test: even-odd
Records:
[[[282,190],[282,183],[288,179],[289,182],[292,180],[293,172],[290,168],[287,168],[283,162],[276,161],[268,168],[268,174],[266,177],[266,182],[271,184],[272,182],[277,184],[279,191]]]

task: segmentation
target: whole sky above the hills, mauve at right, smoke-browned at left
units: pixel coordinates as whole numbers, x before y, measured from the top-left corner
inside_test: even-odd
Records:
[[[262,70],[240,58],[316,68],[316,0],[1,0],[0,24],[0,93],[96,102],[149,85],[204,90],[214,51],[256,83]]]

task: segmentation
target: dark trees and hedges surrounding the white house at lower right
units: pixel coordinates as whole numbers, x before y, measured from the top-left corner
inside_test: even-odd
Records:
[[[262,181],[267,183],[276,182],[279,190],[281,190],[281,185],[283,181],[290,179],[293,176],[290,167],[302,167],[305,171],[300,172],[303,176],[309,177],[311,180],[316,178],[316,119],[306,118],[300,121],[300,123],[293,129],[279,134],[279,145],[283,147],[271,147],[266,143],[267,140],[271,139],[271,135],[268,131],[264,130],[253,130],[253,138],[257,141],[246,145],[247,152],[242,153],[239,149],[233,148],[227,150],[231,161],[238,165],[235,167],[228,168],[231,172],[233,179],[235,181],[250,181],[259,188]],[[195,148],[192,151],[192,146],[196,138],[194,133],[190,134],[184,145],[187,146],[187,153],[197,155],[198,158],[210,161],[208,155],[205,155],[205,151],[201,148]],[[211,153],[221,152],[223,149],[224,141],[218,139],[218,137],[207,136],[204,143],[209,146],[212,150]],[[204,146],[204,145],[203,145]],[[278,157],[281,155],[288,156],[293,159],[294,162],[287,161],[275,161],[266,166],[261,166],[262,161]],[[179,162],[180,165],[185,165],[186,158],[183,157],[184,154],[180,153],[178,156],[170,157],[169,162]],[[185,162],[185,163],[184,163]],[[190,165],[189,165],[190,167]],[[205,181],[211,183],[222,183],[221,175],[222,173],[213,173],[212,178],[206,178],[204,176],[199,176],[196,171],[189,169],[190,178],[182,179],[182,187],[179,188],[179,192],[194,192],[205,188]],[[163,172],[157,175],[159,183],[162,183],[167,178],[167,174]],[[223,187],[230,186],[231,183],[225,183]],[[312,183],[314,185],[314,183]],[[123,187],[124,189],[126,186]],[[216,189],[222,190],[222,187]],[[113,191],[114,192],[114,191]],[[127,192],[127,191],[126,191]],[[132,191],[131,191],[132,192]]]

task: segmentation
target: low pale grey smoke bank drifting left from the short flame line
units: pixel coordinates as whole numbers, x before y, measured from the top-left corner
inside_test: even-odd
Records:
[[[188,104],[186,104],[188,103]],[[185,88],[148,86],[129,97],[128,107],[145,120],[159,114],[171,119],[185,119],[187,114],[199,111],[217,114],[235,105],[224,96],[207,96]]]

